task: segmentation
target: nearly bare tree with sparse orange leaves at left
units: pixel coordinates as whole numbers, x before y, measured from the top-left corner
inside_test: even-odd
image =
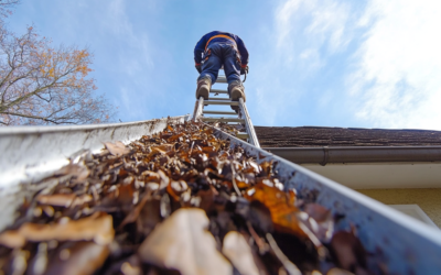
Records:
[[[11,0],[12,1],[12,0]],[[83,124],[109,121],[115,112],[94,97],[92,55],[51,47],[32,26],[17,36],[0,26],[0,124]]]

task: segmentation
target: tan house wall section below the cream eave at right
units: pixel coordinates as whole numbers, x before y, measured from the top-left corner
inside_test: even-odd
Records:
[[[418,205],[441,228],[441,188],[357,189],[385,205]]]

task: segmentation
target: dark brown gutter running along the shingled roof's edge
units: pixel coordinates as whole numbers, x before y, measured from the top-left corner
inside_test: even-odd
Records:
[[[441,146],[265,147],[297,164],[439,162]]]

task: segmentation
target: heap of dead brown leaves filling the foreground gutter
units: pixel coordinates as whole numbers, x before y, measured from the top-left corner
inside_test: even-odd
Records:
[[[1,271],[372,274],[359,240],[334,232],[329,209],[213,133],[186,122],[74,155],[0,234]]]

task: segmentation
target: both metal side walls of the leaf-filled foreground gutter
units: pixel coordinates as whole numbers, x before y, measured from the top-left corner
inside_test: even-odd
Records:
[[[15,176],[15,182],[0,188],[0,230],[13,220],[15,207],[23,201],[23,190],[18,183],[32,184],[36,176],[64,165],[67,157],[80,150],[99,152],[103,141],[127,143],[161,131],[168,122],[187,119],[176,117],[109,125],[1,130],[0,182],[4,183],[6,175]],[[230,146],[243,147],[258,163],[272,162],[286,189],[295,188],[299,199],[312,199],[342,217],[335,223],[336,230],[349,230],[351,226],[355,226],[362,243],[372,254],[369,263],[384,263],[390,274],[438,275],[441,271],[440,230],[219,129],[215,129],[215,135],[229,140]],[[17,178],[28,182],[17,182]],[[32,188],[37,186],[29,187]]]

